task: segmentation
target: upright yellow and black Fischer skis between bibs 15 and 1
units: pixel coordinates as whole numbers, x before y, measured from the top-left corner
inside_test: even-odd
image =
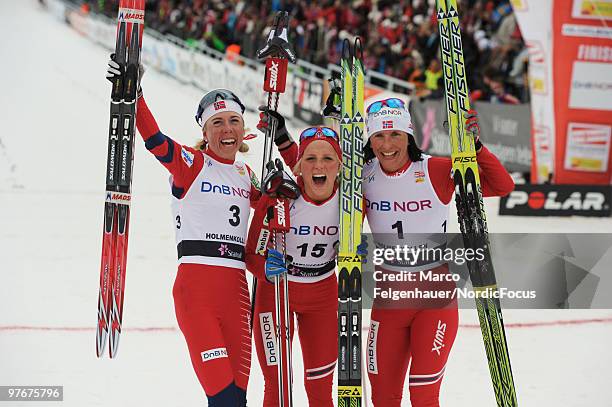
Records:
[[[361,39],[353,52],[342,46],[340,145],[340,245],[338,248],[338,407],[360,407],[361,385],[361,243],[364,132],[364,69]]]

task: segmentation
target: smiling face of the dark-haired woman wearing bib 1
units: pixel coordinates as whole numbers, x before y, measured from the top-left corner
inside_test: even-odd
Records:
[[[374,155],[386,172],[395,172],[408,162],[408,133],[383,130],[370,137]]]

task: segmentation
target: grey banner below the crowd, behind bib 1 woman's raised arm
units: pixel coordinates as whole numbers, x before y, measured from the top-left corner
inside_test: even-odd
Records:
[[[531,115],[529,105],[480,102],[478,111],[482,142],[510,172],[531,168]],[[416,140],[431,155],[449,156],[450,141],[443,101],[413,101],[410,104]]]

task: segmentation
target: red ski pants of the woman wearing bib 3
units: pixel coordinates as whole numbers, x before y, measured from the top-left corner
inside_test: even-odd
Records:
[[[233,399],[246,397],[251,367],[251,306],[244,270],[181,264],[172,293],[191,363],[209,401],[242,405]],[[215,404],[218,394],[232,401]]]

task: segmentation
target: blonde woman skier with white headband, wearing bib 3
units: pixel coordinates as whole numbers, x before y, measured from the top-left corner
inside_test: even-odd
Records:
[[[109,61],[107,77],[122,72]],[[178,272],[176,318],[209,407],[244,407],[251,363],[245,245],[256,176],[236,153],[244,105],[231,91],[208,92],[198,106],[200,147],[163,134],[139,90],[136,125],[145,147],[170,172]]]

